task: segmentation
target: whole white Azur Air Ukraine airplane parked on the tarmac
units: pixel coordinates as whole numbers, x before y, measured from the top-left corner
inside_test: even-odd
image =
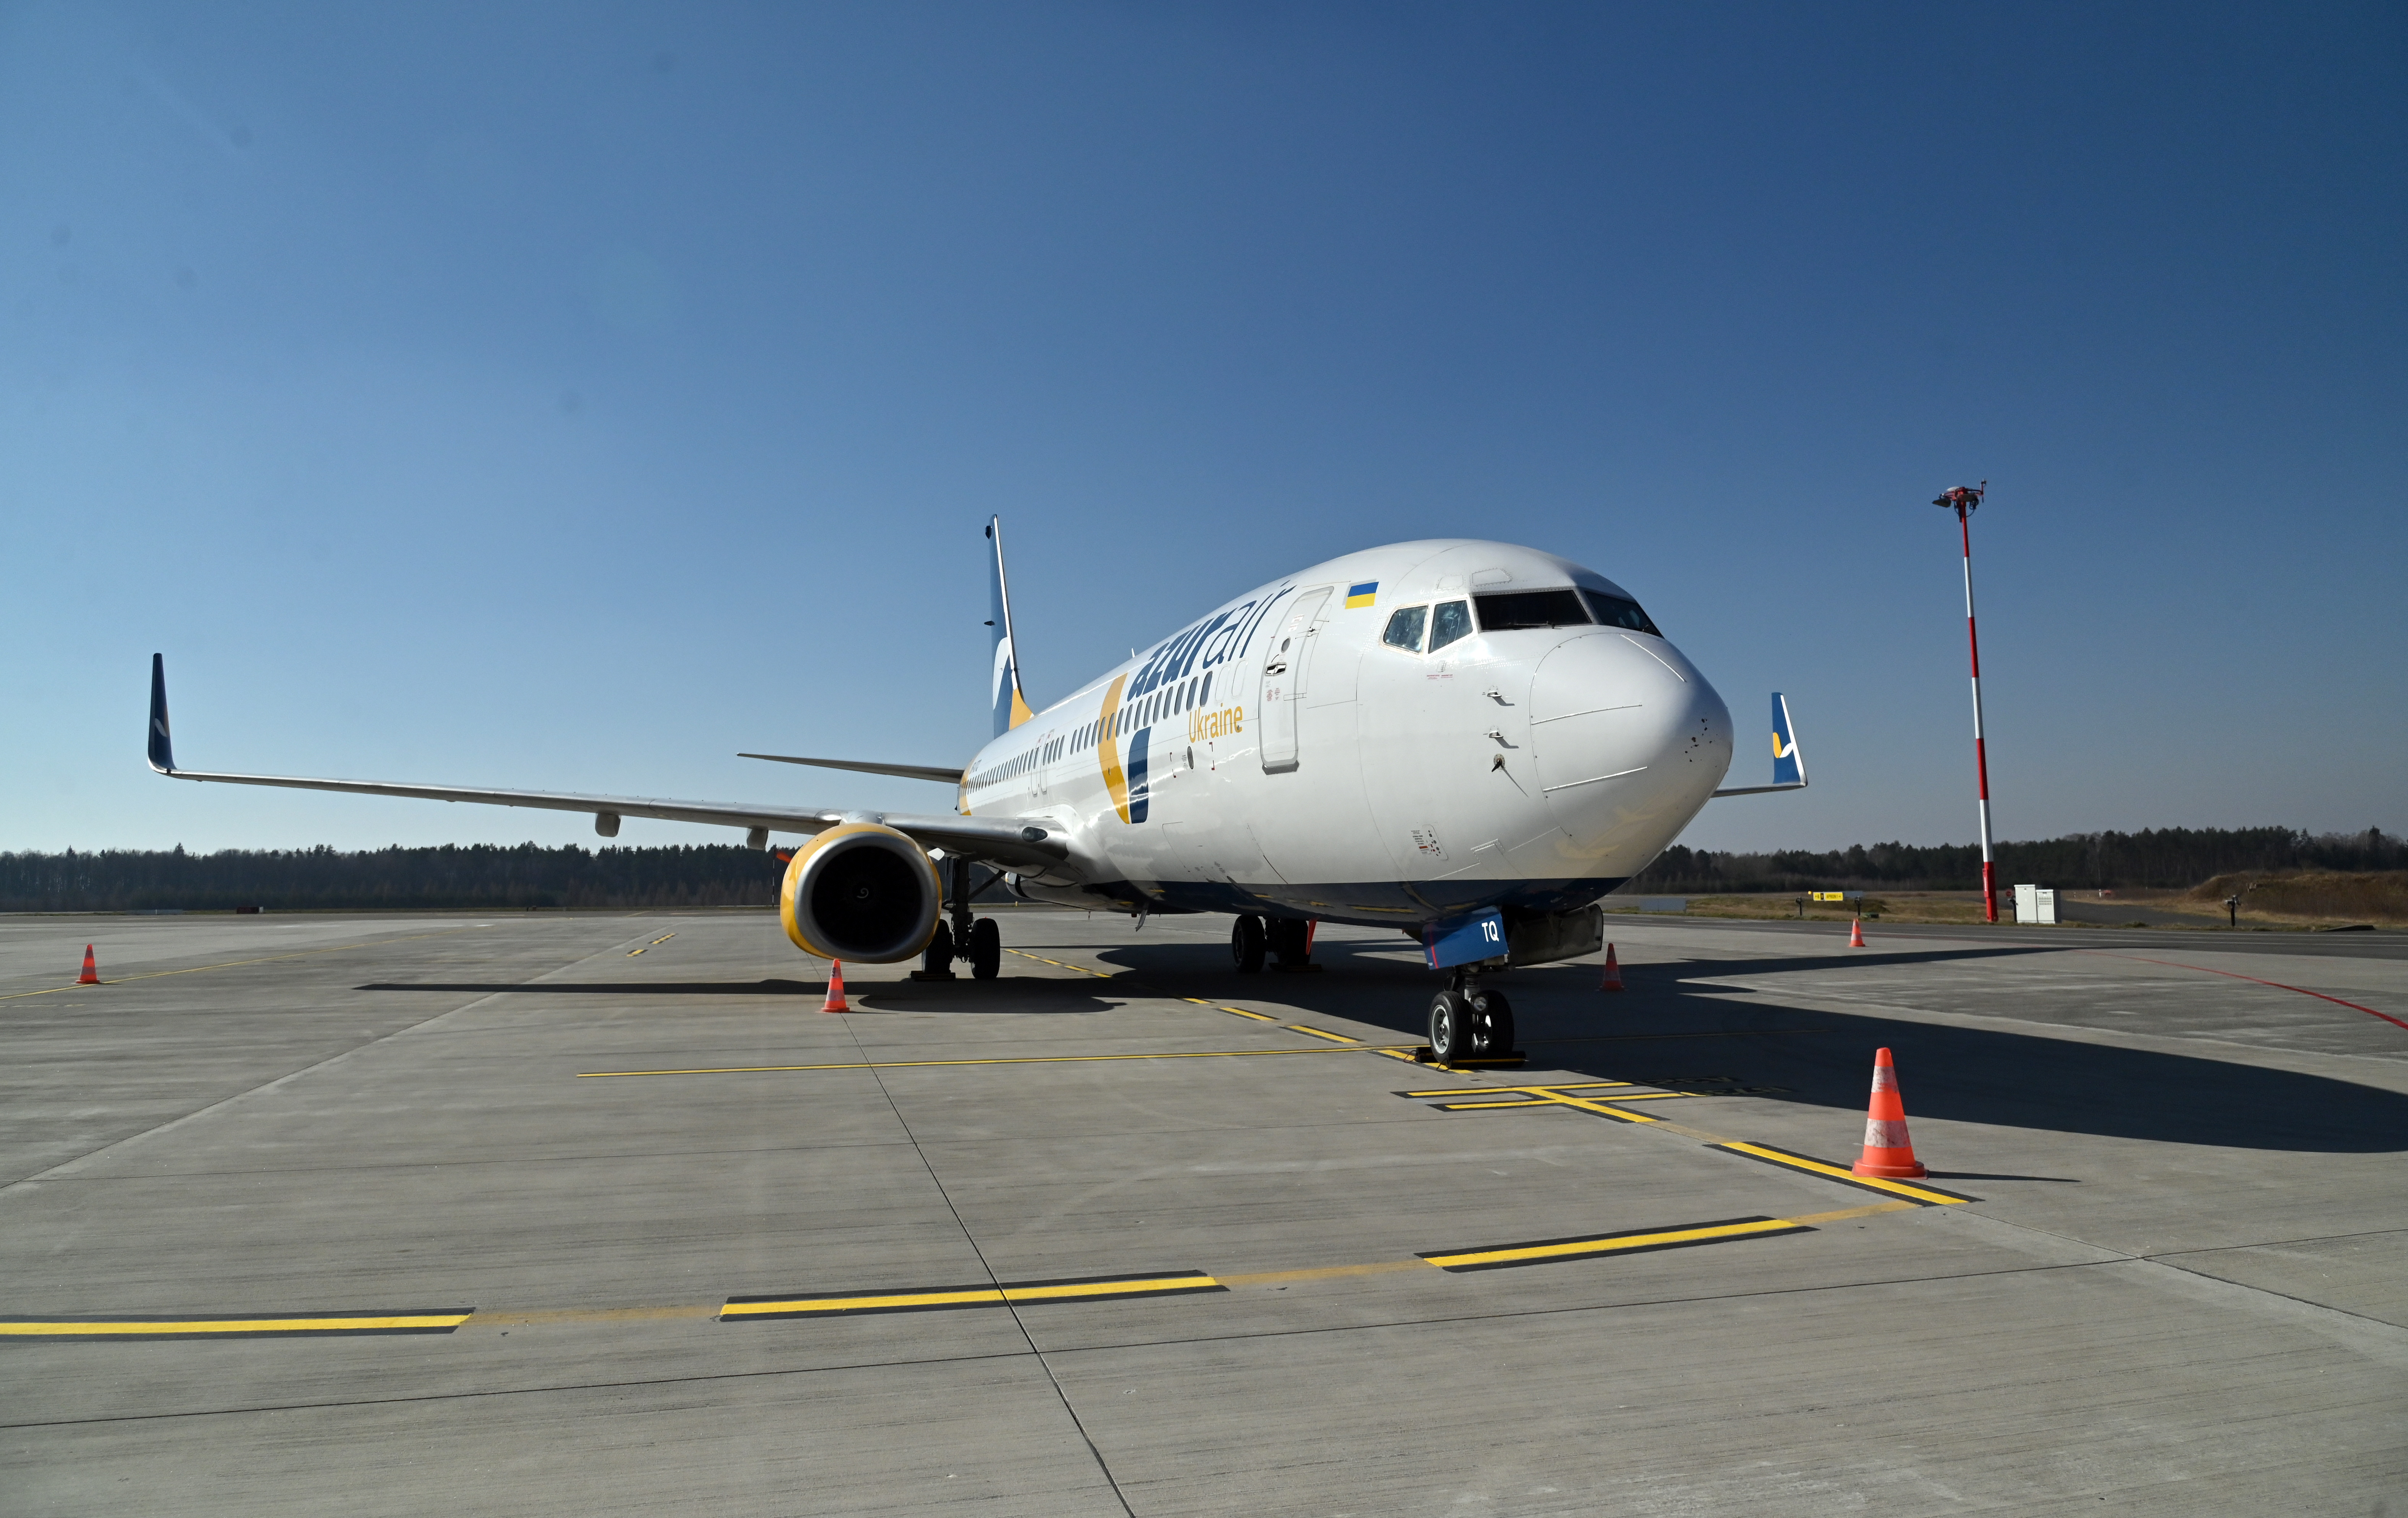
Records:
[[[1397,928],[1445,971],[1430,1058],[1503,1058],[1512,966],[1594,954],[1599,899],[1717,795],[1806,788],[1772,696],[1772,783],[1722,786],[1731,716],[1606,576],[1529,547],[1394,542],[1230,598],[1033,708],[1011,639],[1002,518],[987,520],[995,737],[966,769],[742,754],[954,786],[951,812],[684,802],[178,769],[152,655],[149,766],[294,786],[804,834],[778,920],[819,959],[915,978],[1002,969],[995,887],[1023,901],[1230,913],[1230,959],[1312,966],[1315,923]],[[780,851],[783,853],[783,851]]]

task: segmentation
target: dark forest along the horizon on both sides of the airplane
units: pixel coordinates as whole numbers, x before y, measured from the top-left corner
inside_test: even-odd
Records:
[[[224,853],[0,853],[0,911],[373,911],[373,908],[633,908],[771,906],[783,863],[734,843],[684,848],[335,848]],[[2302,834],[2288,826],[2068,834],[1999,846],[1999,884],[2184,889],[2218,875],[2403,870],[2394,834]],[[1873,843],[1830,853],[1722,853],[1674,846],[1625,892],[1975,892],[1972,843]]]

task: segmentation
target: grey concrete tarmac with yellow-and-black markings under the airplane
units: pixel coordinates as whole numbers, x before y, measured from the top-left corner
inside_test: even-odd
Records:
[[[0,920],[0,1513],[2408,1516],[2401,935],[997,916]]]

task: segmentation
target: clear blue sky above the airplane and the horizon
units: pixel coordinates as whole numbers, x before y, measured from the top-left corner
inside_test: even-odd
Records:
[[[178,759],[939,810],[1404,537],[1613,576],[1717,848],[2408,826],[2408,12],[0,7],[0,848],[585,841]],[[1753,745],[1741,773],[1753,776]],[[621,841],[725,841],[628,822]]]

